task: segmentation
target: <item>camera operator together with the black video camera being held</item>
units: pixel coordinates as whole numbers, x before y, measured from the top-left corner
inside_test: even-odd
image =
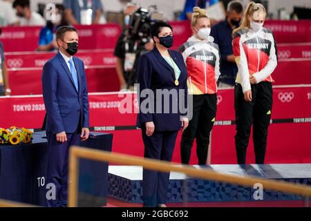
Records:
[[[140,55],[154,47],[150,37],[151,18],[149,11],[138,8],[134,3],[128,3],[124,8],[124,24],[126,28],[115,46],[116,70],[120,80],[120,89],[133,90],[136,82],[136,61]]]

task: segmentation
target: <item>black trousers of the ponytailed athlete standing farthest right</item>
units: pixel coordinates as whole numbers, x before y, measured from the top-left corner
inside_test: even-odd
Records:
[[[241,84],[234,87],[236,111],[236,155],[238,164],[245,164],[249,135],[253,126],[256,164],[265,162],[267,128],[272,111],[272,83],[263,81],[252,85],[252,102],[246,102]]]

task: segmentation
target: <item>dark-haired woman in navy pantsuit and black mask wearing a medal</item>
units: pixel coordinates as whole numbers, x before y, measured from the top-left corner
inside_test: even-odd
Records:
[[[173,45],[169,23],[156,22],[151,36],[156,47],[140,57],[137,67],[138,127],[142,129],[144,157],[170,162],[178,131],[188,126],[187,68],[180,52],[169,50]],[[144,206],[165,206],[168,185],[169,173],[144,169]]]

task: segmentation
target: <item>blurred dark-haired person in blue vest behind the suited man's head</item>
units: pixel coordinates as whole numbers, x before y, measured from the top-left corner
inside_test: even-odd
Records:
[[[55,31],[61,26],[68,25],[64,16],[64,10],[62,4],[55,5],[55,19],[47,21],[46,26],[41,29],[37,50],[55,50],[57,48]]]

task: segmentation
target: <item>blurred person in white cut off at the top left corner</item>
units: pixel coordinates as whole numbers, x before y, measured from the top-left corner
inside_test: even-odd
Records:
[[[0,27],[1,26],[18,26],[19,21],[15,15],[12,3],[0,0]]]

